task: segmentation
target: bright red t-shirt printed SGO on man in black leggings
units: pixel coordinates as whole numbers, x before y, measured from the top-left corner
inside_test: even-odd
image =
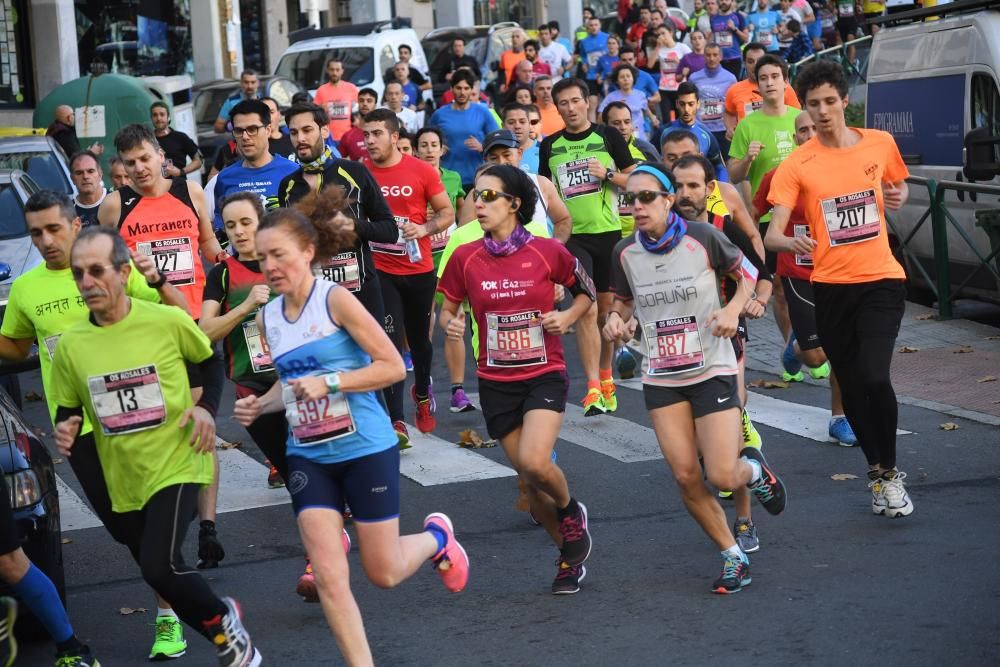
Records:
[[[427,222],[427,206],[431,197],[444,192],[444,183],[441,182],[441,174],[437,169],[423,160],[405,154],[402,160],[385,169],[376,167],[367,156],[361,163],[368,167],[381,187],[382,196],[389,202],[392,215],[396,218],[396,226],[402,227],[407,222],[415,225]],[[433,271],[431,237],[425,236],[418,243],[422,255],[419,262],[411,262],[406,254],[402,232],[396,243],[369,243],[372,257],[375,258],[375,268],[397,276]]]

